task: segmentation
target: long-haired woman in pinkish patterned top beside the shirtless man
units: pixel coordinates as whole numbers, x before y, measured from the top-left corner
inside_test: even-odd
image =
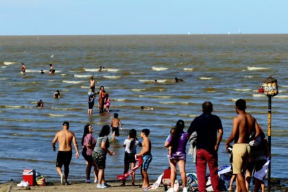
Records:
[[[91,173],[91,167],[94,167],[94,176],[95,180],[94,182],[97,182],[97,176],[98,176],[98,168],[95,164],[94,160],[92,159],[92,152],[96,145],[96,139],[92,135],[93,133],[93,127],[90,124],[85,125],[84,127],[84,134],[82,136],[82,156],[86,160],[86,183],[90,183],[90,173]]]

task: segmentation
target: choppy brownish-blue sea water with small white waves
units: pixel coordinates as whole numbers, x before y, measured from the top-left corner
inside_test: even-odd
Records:
[[[0,182],[21,180],[23,169],[58,179],[51,141],[62,122],[70,122],[80,145],[86,123],[93,124],[97,137],[114,112],[124,129],[110,145],[117,155],[107,158],[106,178],[123,173],[128,131],[134,128],[140,137],[149,128],[154,157],[148,173],[156,179],[169,166],[163,145],[170,128],[183,119],[187,130],[206,100],[213,102],[213,113],[224,126],[219,165],[228,165],[225,141],[237,99],[246,99],[247,111],[267,134],[267,97],[253,91],[269,75],[276,77],[280,91],[272,99],[272,177],[288,178],[287,44],[288,35],[0,36]],[[49,63],[56,69],[53,75]],[[99,72],[100,66],[105,70]],[[87,115],[91,75],[110,95],[110,114],[99,114],[95,105],[93,116]],[[184,82],[173,83],[174,77]],[[62,98],[52,98],[56,90]],[[39,99],[45,108],[35,107]],[[141,111],[140,106],[155,110]],[[193,171],[188,156],[187,172]],[[81,155],[73,156],[69,178],[85,179]]]

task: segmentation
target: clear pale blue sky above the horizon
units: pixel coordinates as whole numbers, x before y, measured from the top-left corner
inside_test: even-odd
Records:
[[[287,34],[287,8],[287,0],[0,0],[0,35]]]

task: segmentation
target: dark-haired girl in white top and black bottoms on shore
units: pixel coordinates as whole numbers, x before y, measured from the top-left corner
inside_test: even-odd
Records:
[[[128,139],[125,139],[123,147],[125,147],[125,156],[124,156],[124,174],[128,172],[129,165],[131,164],[131,169],[135,167],[136,159],[136,147],[139,145],[142,147],[142,143],[138,141],[136,137],[136,130],[132,129],[129,131]],[[125,186],[125,180],[121,186]],[[135,186],[135,172],[132,173],[132,186]]]

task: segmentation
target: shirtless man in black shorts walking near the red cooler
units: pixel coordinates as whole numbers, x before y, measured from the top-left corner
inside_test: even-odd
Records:
[[[76,158],[79,158],[78,145],[76,141],[76,137],[73,132],[69,131],[69,122],[64,121],[63,130],[60,130],[56,133],[53,141],[52,147],[53,151],[56,150],[56,142],[58,141],[59,150],[57,154],[57,162],[56,162],[56,171],[61,177],[61,184],[70,184],[67,181],[69,175],[69,164],[72,158],[72,147],[71,142],[73,141],[73,145],[76,151]],[[64,175],[62,173],[62,165],[64,165]]]

